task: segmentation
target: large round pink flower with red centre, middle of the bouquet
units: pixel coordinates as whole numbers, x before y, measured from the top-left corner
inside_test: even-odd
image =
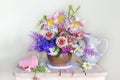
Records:
[[[56,44],[60,48],[65,47],[65,46],[67,46],[67,39],[63,36],[60,36],[57,38]]]

